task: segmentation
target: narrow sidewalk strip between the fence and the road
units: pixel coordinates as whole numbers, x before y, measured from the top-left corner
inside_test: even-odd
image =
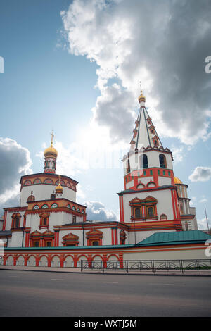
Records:
[[[94,273],[94,274],[106,274],[106,275],[170,275],[170,276],[211,276],[211,270],[186,270],[184,273],[181,273],[180,270],[174,271],[163,271],[156,270],[154,274],[152,271],[132,271],[129,270],[99,270],[99,269],[84,269],[81,271],[81,268],[52,268],[52,267],[25,267],[25,266],[0,266],[0,270],[16,270],[16,271],[37,271],[37,272],[49,272],[49,273]]]

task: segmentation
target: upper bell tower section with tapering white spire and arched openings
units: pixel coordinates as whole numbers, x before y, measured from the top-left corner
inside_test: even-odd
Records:
[[[130,149],[122,160],[124,189],[174,185],[172,152],[163,148],[145,102],[146,97],[141,91]]]

